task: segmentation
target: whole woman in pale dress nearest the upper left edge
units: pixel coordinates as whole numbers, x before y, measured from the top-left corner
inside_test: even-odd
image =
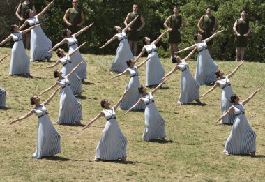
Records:
[[[39,25],[36,25],[36,26],[39,26]],[[29,56],[27,55],[27,52],[25,50],[25,47],[22,41],[22,35],[24,33],[31,31],[31,29],[34,29],[36,26],[32,26],[29,29],[24,30],[24,31],[19,31],[19,27],[16,24],[12,24],[10,26],[10,31],[12,31],[12,33],[5,40],[1,41],[0,45],[5,44],[11,38],[15,42],[12,47],[9,75],[26,74],[31,77],[30,70],[29,70]]]

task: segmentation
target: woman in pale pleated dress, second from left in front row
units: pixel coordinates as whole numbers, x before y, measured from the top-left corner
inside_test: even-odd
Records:
[[[119,99],[118,103],[113,107],[110,106],[110,102],[107,99],[101,100],[100,105],[103,107],[103,111],[98,114],[95,118],[93,118],[84,128],[88,128],[91,126],[93,122],[99,119],[101,116],[105,116],[107,123],[103,130],[103,133],[100,138],[100,142],[98,142],[98,146],[96,148],[96,156],[95,161],[99,160],[121,160],[126,162],[126,147],[127,147],[127,139],[124,137],[119,125],[116,121],[116,113],[115,110],[119,107],[121,100],[126,96],[125,91],[123,96]]]

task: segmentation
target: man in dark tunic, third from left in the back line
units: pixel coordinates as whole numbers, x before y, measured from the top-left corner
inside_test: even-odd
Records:
[[[133,4],[132,6],[132,13],[128,13],[126,19],[124,20],[124,24],[125,26],[128,26],[128,24],[135,19],[135,17],[137,17],[137,15],[139,15],[139,17],[137,18],[137,20],[135,21],[134,24],[132,24],[132,26],[130,26],[130,28],[128,29],[128,40],[129,40],[129,45],[130,45],[130,50],[132,50],[132,43],[133,43],[133,55],[136,56],[137,54],[137,47],[138,47],[138,41],[139,41],[139,31],[142,30],[142,28],[144,27],[144,17],[138,13],[138,6],[137,4]]]

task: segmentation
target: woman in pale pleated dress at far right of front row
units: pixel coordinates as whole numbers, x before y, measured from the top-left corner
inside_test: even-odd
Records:
[[[247,118],[245,117],[244,105],[252,99],[257,92],[262,88],[257,89],[248,98],[239,103],[239,97],[236,94],[230,97],[231,103],[233,105],[228,109],[225,114],[222,114],[216,123],[220,122],[228,114],[234,112],[236,118],[234,119],[234,124],[232,126],[231,133],[225,142],[225,155],[229,154],[247,154],[251,153],[251,156],[255,156],[256,152],[256,134],[250,127]]]

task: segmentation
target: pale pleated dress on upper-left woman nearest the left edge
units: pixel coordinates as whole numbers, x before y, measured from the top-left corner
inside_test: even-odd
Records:
[[[12,47],[9,75],[28,74],[29,56],[22,41],[22,33],[11,33],[11,36],[15,43]]]

